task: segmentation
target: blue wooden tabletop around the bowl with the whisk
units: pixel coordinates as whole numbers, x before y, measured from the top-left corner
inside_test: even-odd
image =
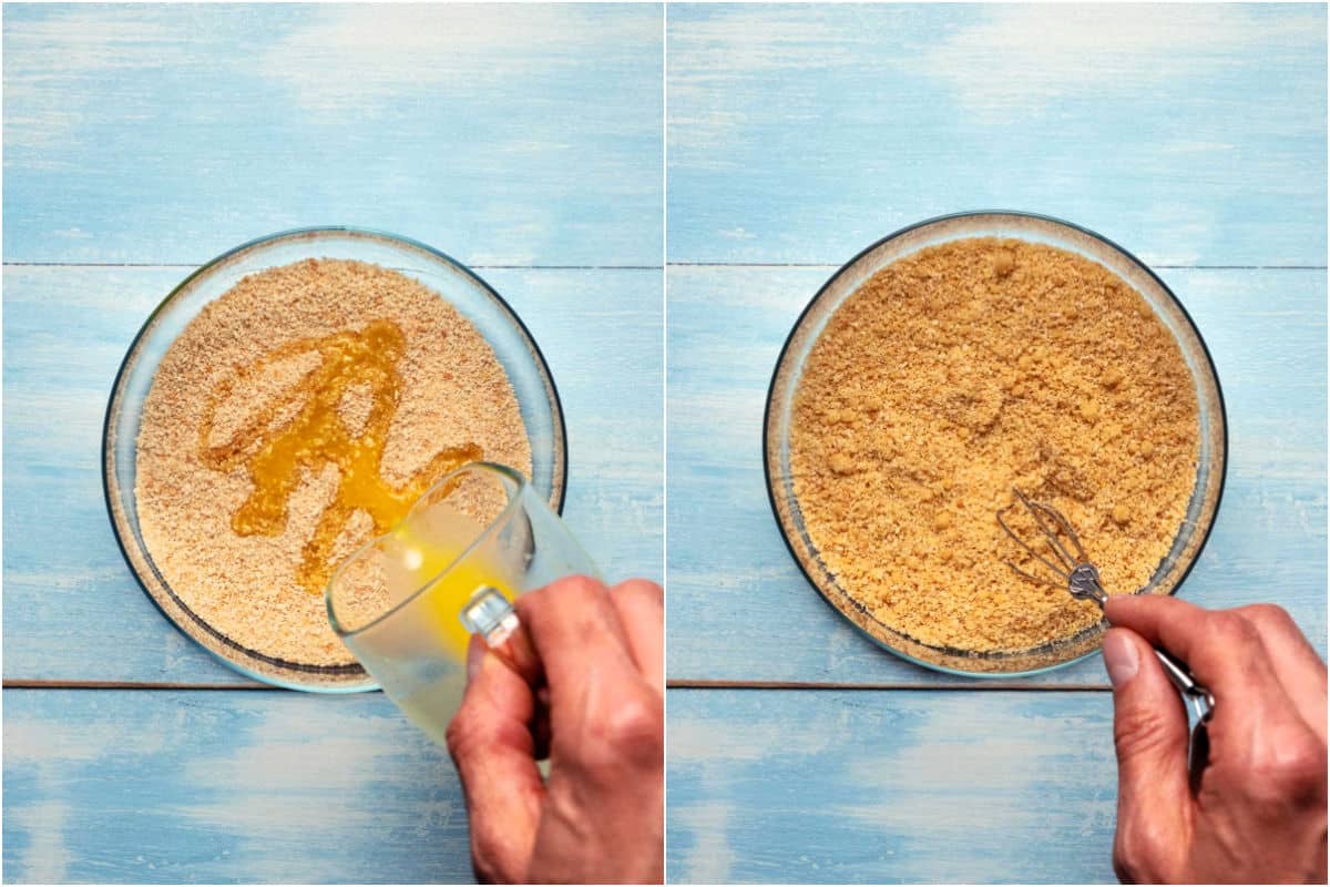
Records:
[[[1326,649],[1323,7],[668,8],[668,864],[676,882],[1112,879],[1101,661],[978,682],[803,580],[762,477],[785,335],[835,269],[968,209],[1123,243],[1228,400],[1182,588]]]

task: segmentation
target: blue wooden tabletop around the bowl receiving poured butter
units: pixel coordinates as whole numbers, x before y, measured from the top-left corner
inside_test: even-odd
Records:
[[[153,609],[102,412],[218,253],[414,237],[544,350],[606,577],[660,578],[662,43],[652,5],[4,8],[5,880],[471,878],[447,754],[380,694],[263,689]]]

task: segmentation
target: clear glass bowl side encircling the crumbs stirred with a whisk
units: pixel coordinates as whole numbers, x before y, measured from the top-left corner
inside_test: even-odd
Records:
[[[1201,553],[1224,492],[1228,426],[1214,362],[1182,303],[1140,259],[1099,234],[1069,222],[1012,211],[960,213],[928,219],[899,230],[863,250],[831,275],[831,279],[813,297],[781,350],[767,392],[762,428],[767,492],[790,553],[822,597],[887,650],[939,672],[1013,677],[1060,668],[1095,653],[1107,628],[1105,622],[1100,621],[1072,637],[1019,652],[980,653],[923,644],[876,620],[867,608],[841,588],[822,563],[817,545],[807,533],[790,477],[790,418],[794,395],[813,344],[831,315],[859,286],[896,259],[928,246],[974,237],[1005,237],[1047,243],[1107,267],[1145,298],[1156,317],[1172,332],[1186,360],[1196,383],[1200,408],[1201,447],[1196,485],[1172,549],[1160,563],[1149,584],[1137,593],[1174,593]]]

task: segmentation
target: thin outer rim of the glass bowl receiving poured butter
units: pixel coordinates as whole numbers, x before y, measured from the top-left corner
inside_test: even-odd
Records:
[[[567,426],[567,420],[564,418],[563,399],[561,399],[561,396],[559,394],[559,387],[555,383],[553,372],[551,372],[549,363],[545,360],[545,355],[540,350],[540,344],[536,342],[536,338],[531,334],[531,330],[527,327],[525,322],[513,310],[513,307],[511,305],[508,305],[508,301],[504,299],[499,294],[499,291],[495,290],[495,287],[492,287],[489,285],[488,281],[485,281],[479,274],[476,274],[476,271],[472,270],[469,266],[464,265],[463,262],[459,262],[458,259],[452,258],[451,255],[448,255],[443,250],[438,250],[438,249],[430,246],[428,243],[423,243],[423,242],[420,242],[418,239],[414,239],[414,238],[410,238],[410,237],[404,237],[404,235],[400,235],[400,234],[394,234],[391,231],[384,231],[384,230],[372,229],[372,227],[360,227],[360,226],[356,226],[356,225],[313,225],[313,226],[305,226],[305,227],[285,229],[285,230],[281,230],[281,231],[275,231],[273,234],[265,234],[262,237],[255,237],[255,238],[249,239],[249,241],[246,241],[246,242],[243,242],[243,243],[241,243],[238,246],[233,246],[231,249],[226,250],[225,253],[219,253],[218,255],[213,257],[211,259],[203,262],[202,265],[200,265],[198,267],[196,267],[193,271],[190,271],[190,274],[186,275],[184,279],[181,279],[176,286],[172,287],[170,293],[168,293],[166,297],[161,302],[157,303],[157,306],[144,319],[142,326],[138,327],[138,332],[134,334],[134,338],[130,340],[129,347],[125,350],[125,356],[121,358],[120,367],[116,370],[116,376],[112,380],[110,394],[106,398],[106,410],[105,410],[105,412],[102,415],[102,426],[101,426],[101,491],[102,491],[102,500],[104,500],[104,503],[106,505],[106,516],[108,516],[108,519],[110,521],[112,536],[116,537],[116,547],[120,549],[120,556],[124,559],[125,565],[129,568],[130,576],[134,577],[134,581],[138,584],[138,588],[144,592],[144,596],[148,597],[149,601],[152,601],[152,604],[157,609],[157,612],[161,613],[161,616],[166,620],[166,622],[169,622],[177,632],[180,632],[181,634],[184,634],[185,637],[188,637],[190,641],[193,641],[196,645],[198,645],[200,648],[202,648],[214,660],[222,662],[223,665],[226,665],[227,668],[230,668],[234,672],[239,672],[241,674],[243,674],[247,678],[251,678],[251,680],[255,680],[255,681],[261,681],[263,684],[273,685],[273,686],[279,686],[279,688],[285,688],[285,689],[290,689],[290,690],[303,690],[303,692],[310,692],[310,693],[360,693],[360,692],[376,690],[376,689],[379,689],[379,686],[374,681],[374,678],[370,677],[368,672],[366,672],[364,668],[360,666],[358,662],[352,662],[352,664],[347,664],[347,665],[309,665],[309,664],[305,664],[305,662],[291,662],[289,660],[282,660],[282,658],[278,658],[278,657],[263,654],[263,653],[261,653],[258,650],[253,650],[253,649],[245,646],[243,644],[239,644],[238,641],[235,641],[235,640],[227,637],[226,634],[221,633],[219,630],[217,630],[215,626],[210,625],[207,622],[207,620],[205,620],[201,616],[198,616],[197,613],[194,613],[194,610],[188,604],[185,604],[185,601],[182,601],[178,594],[176,594],[176,590],[170,586],[170,584],[166,582],[166,580],[158,574],[158,578],[160,578],[160,581],[162,584],[162,588],[165,589],[166,594],[170,597],[172,602],[176,606],[178,606],[181,609],[181,612],[185,613],[197,626],[200,626],[205,633],[207,633],[210,637],[215,638],[223,646],[234,649],[234,650],[237,650],[238,653],[241,653],[242,656],[245,656],[247,658],[263,662],[265,665],[273,666],[275,669],[281,669],[282,672],[287,672],[287,673],[297,672],[297,673],[306,673],[306,674],[326,676],[326,677],[330,677],[330,678],[331,677],[344,677],[344,676],[363,676],[364,680],[359,681],[359,682],[343,682],[343,684],[330,684],[330,685],[310,685],[310,684],[298,684],[295,681],[287,681],[287,680],[283,680],[283,678],[277,677],[274,674],[269,674],[269,673],[253,670],[253,669],[247,668],[246,665],[243,665],[241,662],[230,660],[226,656],[222,656],[219,652],[211,649],[206,644],[202,644],[197,637],[194,637],[189,632],[186,632],[185,628],[180,624],[180,621],[173,614],[170,614],[170,613],[166,612],[166,609],[162,606],[162,602],[158,601],[157,597],[153,594],[153,592],[148,588],[146,582],[144,581],[144,577],[140,574],[138,568],[134,565],[134,561],[133,561],[133,559],[129,555],[129,548],[128,548],[128,544],[126,544],[126,541],[125,541],[125,539],[122,536],[120,521],[117,521],[117,519],[116,519],[116,507],[114,507],[114,501],[113,501],[112,479],[110,479],[110,475],[112,475],[112,463],[114,461],[113,448],[110,447],[112,419],[117,414],[117,407],[118,407],[118,403],[120,403],[120,399],[121,399],[121,383],[122,383],[122,380],[125,378],[126,370],[129,370],[129,367],[130,367],[132,358],[134,358],[136,352],[138,351],[140,344],[144,340],[144,336],[152,328],[152,326],[156,322],[157,317],[193,281],[196,281],[197,278],[202,277],[203,274],[206,274],[206,273],[217,269],[218,266],[223,265],[225,262],[227,262],[233,257],[235,257],[235,255],[238,255],[238,254],[241,254],[241,253],[243,253],[246,250],[251,250],[254,247],[269,245],[269,243],[274,243],[274,242],[278,242],[278,241],[297,239],[297,238],[301,238],[301,237],[311,237],[311,235],[319,235],[319,234],[350,234],[350,235],[355,235],[355,237],[362,237],[363,235],[363,237],[372,238],[372,239],[387,241],[387,242],[391,242],[394,245],[404,245],[404,246],[411,247],[414,250],[422,251],[422,253],[424,253],[424,254],[427,254],[427,255],[430,255],[430,257],[432,257],[432,258],[435,258],[438,261],[442,261],[444,265],[451,266],[452,269],[455,269],[456,271],[459,271],[464,278],[468,278],[473,283],[476,283],[480,287],[480,290],[485,295],[488,295],[491,299],[493,299],[495,303],[503,310],[503,313],[516,324],[516,327],[520,331],[521,336],[531,346],[531,352],[532,352],[532,355],[535,358],[537,370],[540,371],[541,376],[549,383],[551,406],[553,407],[553,412],[555,412],[555,424],[556,424],[556,428],[557,428],[557,440],[561,444],[560,449],[561,449],[561,456],[563,456],[561,459],[557,460],[557,464],[556,464],[556,473],[555,473],[555,477],[553,477],[553,480],[555,480],[555,488],[556,488],[556,501],[552,501],[551,505],[553,507],[555,513],[563,515],[563,512],[564,512],[564,503],[567,501],[567,497],[568,497],[568,461],[569,461],[569,453],[568,453],[568,449],[569,449],[569,447],[568,447],[568,426]],[[439,294],[439,298],[447,301],[446,297],[443,297],[443,294]],[[481,332],[481,336],[483,335],[484,335],[484,332]],[[146,548],[145,547],[142,547],[142,545],[138,545],[138,547],[142,548],[145,551],[145,553],[146,553]],[[157,569],[156,565],[152,563],[150,556],[148,559],[148,565],[153,570]],[[242,685],[238,685],[238,686],[242,686]]]

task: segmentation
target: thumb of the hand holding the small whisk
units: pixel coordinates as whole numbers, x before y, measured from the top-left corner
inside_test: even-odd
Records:
[[[1193,805],[1186,711],[1153,648],[1134,632],[1108,630],[1104,668],[1113,684],[1117,747],[1113,864],[1124,882],[1172,880],[1173,863],[1188,846]]]

